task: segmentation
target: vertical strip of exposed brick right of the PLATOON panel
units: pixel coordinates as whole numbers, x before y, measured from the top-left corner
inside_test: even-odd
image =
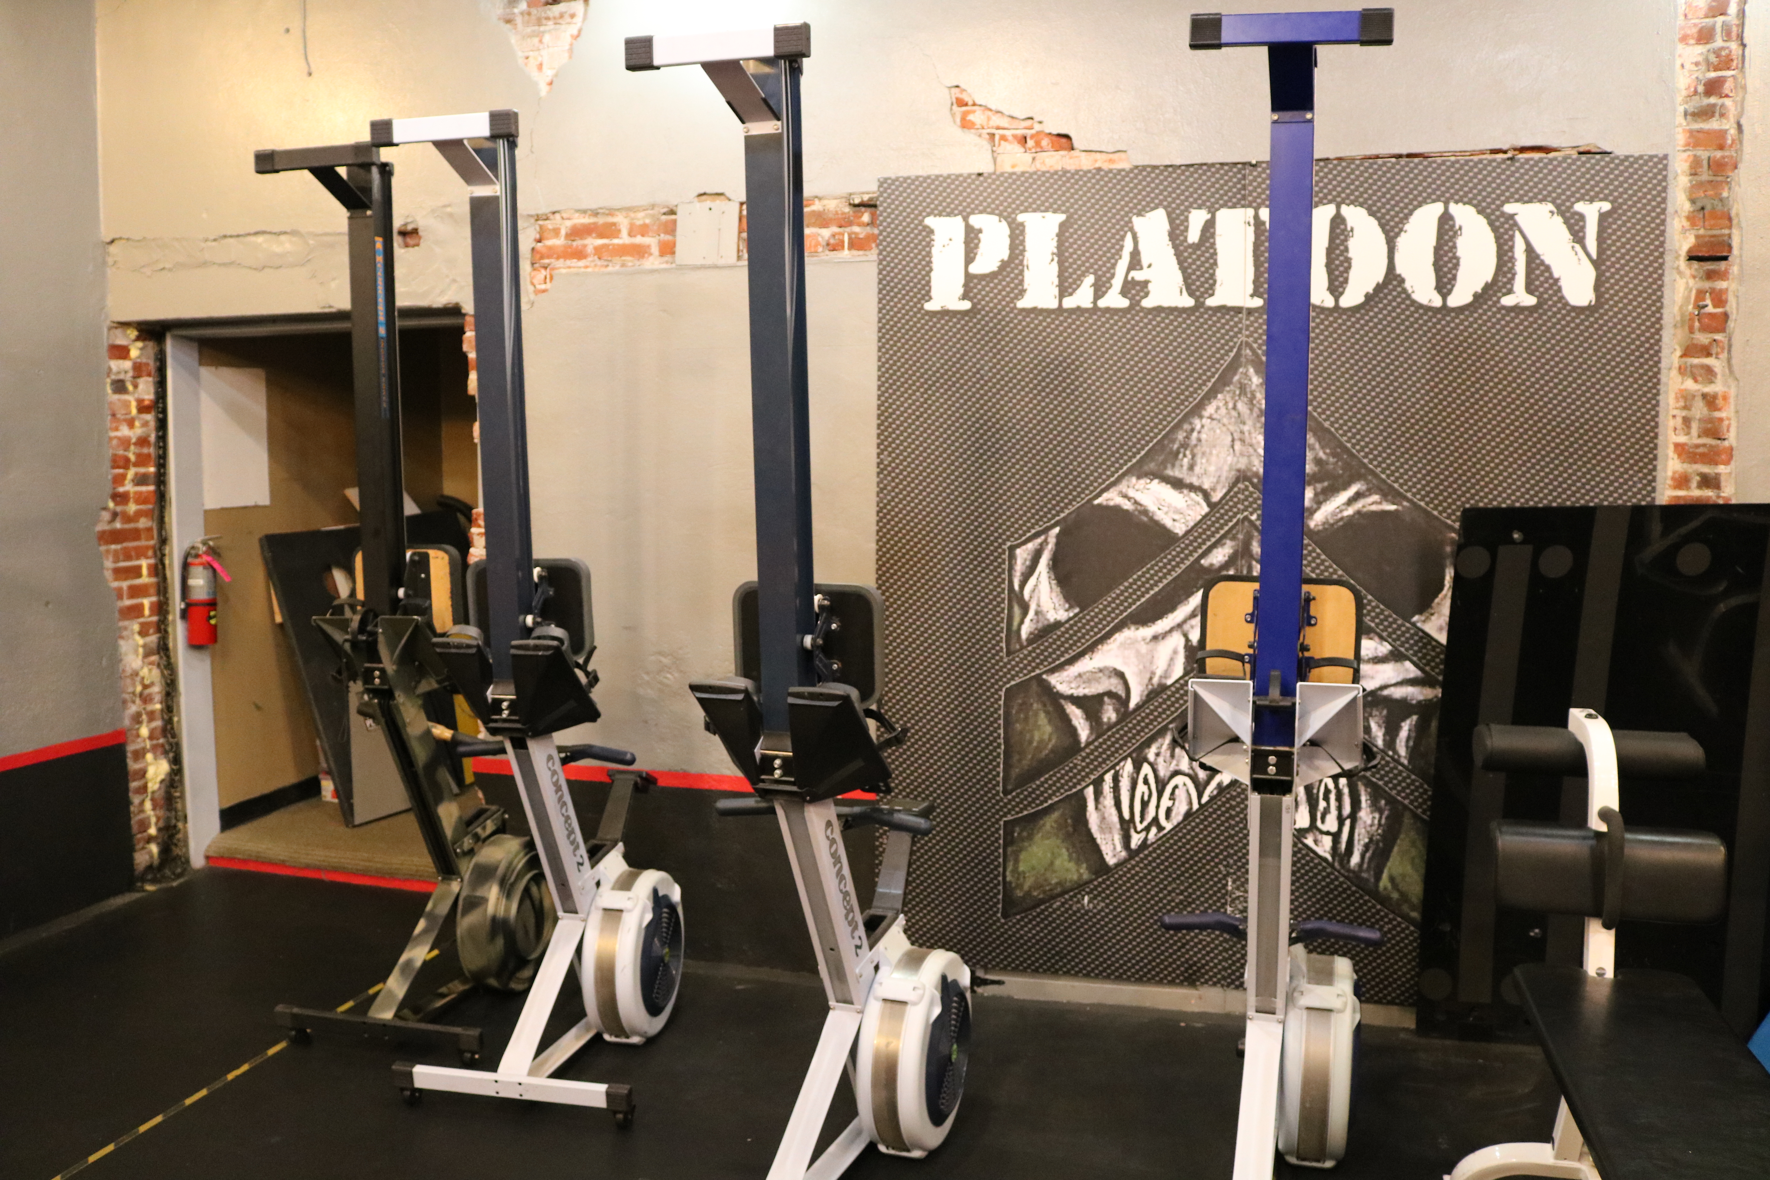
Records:
[[[1666,499],[1733,499],[1733,173],[1745,0],[1685,0],[1678,23],[1676,359]]]

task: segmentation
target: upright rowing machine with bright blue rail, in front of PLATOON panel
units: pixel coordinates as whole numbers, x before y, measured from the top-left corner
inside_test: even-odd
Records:
[[[1368,927],[1292,925],[1290,851],[1297,791],[1356,773],[1365,745],[1356,591],[1303,582],[1315,50],[1389,44],[1393,23],[1389,9],[1204,12],[1191,23],[1193,50],[1264,46],[1273,97],[1260,577],[1257,589],[1244,579],[1209,587],[1211,596],[1244,600],[1234,610],[1211,610],[1207,598],[1186,724],[1193,761],[1250,787],[1248,918],[1168,915],[1161,922],[1170,931],[1220,931],[1248,943],[1235,1180],[1269,1180],[1274,1148],[1312,1168],[1333,1168],[1345,1153],[1358,984],[1349,959],[1312,955],[1306,945],[1382,941]],[[1243,619],[1246,635],[1232,644],[1209,633],[1212,616]],[[1345,637],[1342,647],[1328,644],[1331,633]],[[1209,674],[1227,662],[1235,663],[1232,674]]]

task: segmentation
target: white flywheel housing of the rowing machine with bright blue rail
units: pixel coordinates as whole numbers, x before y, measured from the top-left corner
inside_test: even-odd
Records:
[[[1333,1168],[1352,1113],[1359,1003],[1352,961],[1290,948],[1285,1061],[1278,1079],[1278,1150],[1292,1164]]]

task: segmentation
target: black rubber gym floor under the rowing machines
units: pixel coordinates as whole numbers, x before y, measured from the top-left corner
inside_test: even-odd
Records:
[[[205,869],[0,955],[0,1175],[50,1180],[280,1042],[278,1003],[338,1005],[373,984],[425,897]],[[694,954],[690,925],[690,962]],[[448,955],[432,964],[446,971]],[[575,1003],[575,1001],[568,1001]],[[487,1030],[519,998],[451,1019]],[[565,1007],[565,1005],[561,1005]],[[591,1044],[565,1076],[634,1086],[637,1118],[450,1093],[405,1106],[395,1058],[317,1037],[87,1164],[83,1180],[761,1180],[823,1019],[816,977],[694,966],[648,1046]],[[579,1012],[558,1017],[563,1026]],[[857,1180],[1221,1178],[1235,1138],[1239,1021],[1138,1008],[977,1003],[965,1106],[926,1161],[867,1152]],[[1342,1180],[1435,1180],[1487,1143],[1545,1139],[1554,1083],[1529,1047],[1365,1030]],[[851,1106],[841,1120],[851,1116]],[[835,1120],[825,1129],[830,1136]],[[1280,1175],[1289,1169],[1280,1164]],[[1304,1173],[1296,1169],[1297,1176]]]

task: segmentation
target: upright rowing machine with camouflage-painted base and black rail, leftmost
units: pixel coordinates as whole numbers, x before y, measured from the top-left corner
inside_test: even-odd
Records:
[[[278,1023],[297,1042],[313,1030],[442,1044],[478,1060],[478,1028],[437,1017],[474,989],[522,991],[552,931],[552,900],[540,888],[535,844],[504,833],[496,807],[466,810],[455,764],[435,741],[425,697],[444,683],[432,649],[432,609],[407,594],[404,464],[400,453],[398,306],[393,283],[393,165],[372,143],[269,149],[260,175],[308,172],[349,214],[350,350],[361,510],[358,596],[313,623],[333,642],[359,709],[386,736],[437,874],[418,927],[366,1014],[280,1005]],[[450,915],[457,916],[462,978],[407,1005],[418,969]]]

